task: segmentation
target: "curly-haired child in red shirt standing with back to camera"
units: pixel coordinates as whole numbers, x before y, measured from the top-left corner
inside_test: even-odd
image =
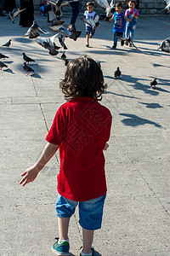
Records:
[[[94,230],[101,228],[107,190],[103,150],[109,147],[111,112],[98,102],[106,84],[99,64],[84,55],[68,63],[59,85],[68,101],[55,114],[48,143],[37,163],[21,174],[20,184],[32,182],[59,148],[59,240],[52,249],[57,255],[69,255],[69,221],[78,205],[83,236],[80,255],[94,255]]]

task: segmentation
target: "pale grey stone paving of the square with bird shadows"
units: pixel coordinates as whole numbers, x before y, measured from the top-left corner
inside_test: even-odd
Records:
[[[101,230],[96,231],[96,255],[167,256],[169,241],[169,93],[170,55],[156,51],[169,37],[170,16],[141,16],[134,44],[112,50],[112,24],[100,25],[85,46],[84,24],[76,42],[66,38],[68,59],[88,54],[101,61],[108,89],[103,104],[113,115],[110,148],[105,152],[108,194]],[[46,17],[37,23],[48,29]],[[69,24],[70,16],[63,16]],[[56,174],[59,154],[39,173],[34,183],[19,185],[20,173],[34,164],[45,146],[54,114],[65,102],[59,90],[65,65],[48,55],[34,40],[23,38],[27,28],[16,19],[0,17],[0,45],[12,39],[10,49],[0,47],[9,58],[8,69],[0,70],[1,137],[1,235],[0,255],[53,255],[51,247],[59,236],[55,215]],[[53,33],[52,33],[53,35]],[[44,36],[41,34],[41,36]],[[22,69],[22,52],[35,63],[34,74]],[[114,79],[120,67],[121,79]],[[156,90],[150,81],[158,79]],[[71,218],[71,255],[82,246],[78,214]]]

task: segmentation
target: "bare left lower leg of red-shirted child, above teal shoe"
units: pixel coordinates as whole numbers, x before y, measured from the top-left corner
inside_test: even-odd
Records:
[[[58,217],[59,240],[67,240],[68,239],[69,222],[70,222],[70,218]]]

